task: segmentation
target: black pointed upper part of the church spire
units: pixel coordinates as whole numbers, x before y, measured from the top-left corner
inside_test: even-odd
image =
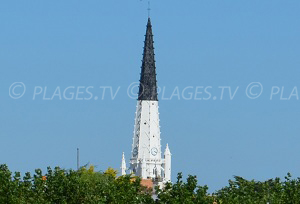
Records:
[[[138,100],[158,101],[151,20],[148,18]]]

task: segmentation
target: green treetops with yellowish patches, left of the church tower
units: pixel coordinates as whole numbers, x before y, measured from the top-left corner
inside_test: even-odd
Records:
[[[0,165],[0,203],[9,204],[78,204],[78,203],[151,203],[151,193],[140,185],[140,179],[130,176],[116,178],[116,171],[105,173],[88,170],[40,169],[23,179],[14,176],[6,165]]]

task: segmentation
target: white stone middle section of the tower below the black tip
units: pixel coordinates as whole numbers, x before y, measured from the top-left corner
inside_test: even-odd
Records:
[[[130,170],[136,169],[136,175],[144,178],[154,178],[155,173],[163,176],[158,108],[158,101],[137,102]],[[143,161],[146,171],[142,170]]]

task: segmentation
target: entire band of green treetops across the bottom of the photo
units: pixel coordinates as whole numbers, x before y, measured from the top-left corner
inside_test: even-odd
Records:
[[[163,189],[141,186],[139,177],[116,176],[117,171],[108,168],[104,173],[83,167],[78,171],[48,167],[46,174],[40,169],[35,173],[12,174],[6,165],[0,165],[0,203],[9,204],[98,204],[98,203],[149,203],[149,204],[299,204],[300,178],[287,174],[267,181],[246,180],[235,176],[229,185],[208,194],[207,186],[199,186],[196,176],[189,175],[183,181],[181,173],[177,181],[167,183]]]

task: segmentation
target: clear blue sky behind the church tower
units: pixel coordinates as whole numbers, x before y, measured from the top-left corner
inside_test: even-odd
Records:
[[[127,88],[139,80],[147,5],[1,3],[0,163],[21,172],[76,168],[77,147],[81,164],[98,170],[119,168],[122,151],[128,161],[136,100]],[[177,172],[197,175],[213,191],[233,175],[300,175],[299,9],[296,0],[151,1],[158,85],[165,87],[161,137],[173,154],[173,180]],[[20,99],[9,95],[14,82],[26,86]],[[263,86],[256,99],[245,92],[252,82]],[[93,98],[45,99],[70,86],[92,86]],[[110,89],[102,100],[100,86],[118,90],[114,100]],[[182,97],[188,86],[191,100]],[[237,89],[232,100],[229,88],[221,100],[222,86]],[[209,100],[194,100],[196,87],[211,87]],[[280,90],[271,100],[272,87]],[[35,89],[42,93],[33,100]]]

